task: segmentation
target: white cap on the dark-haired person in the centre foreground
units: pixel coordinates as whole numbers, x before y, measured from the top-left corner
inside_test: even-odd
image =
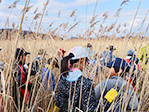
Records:
[[[89,59],[88,52],[85,50],[85,48],[83,48],[81,46],[73,47],[69,51],[69,54],[70,53],[72,53],[74,55],[74,57],[72,57],[71,60],[81,59],[81,58],[85,58],[85,57],[87,57]]]

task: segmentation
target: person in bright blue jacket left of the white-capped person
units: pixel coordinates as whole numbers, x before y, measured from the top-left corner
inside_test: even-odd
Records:
[[[41,74],[41,86],[43,88],[43,97],[47,97],[43,100],[42,105],[43,107],[47,108],[49,99],[51,96],[55,97],[55,74],[53,74],[53,69],[58,68],[58,60],[56,58],[49,58],[47,64],[42,69]],[[50,95],[51,94],[51,95]]]

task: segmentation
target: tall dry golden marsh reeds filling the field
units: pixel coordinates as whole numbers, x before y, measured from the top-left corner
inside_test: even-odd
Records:
[[[139,34],[135,34],[135,32],[132,33],[132,29],[133,29],[133,25],[134,25],[134,21],[136,19],[140,4],[142,2],[142,0],[140,0],[140,3],[138,5],[138,8],[136,10],[136,13],[134,14],[134,19],[133,19],[133,23],[130,29],[130,32],[126,34],[125,31],[120,31],[120,27],[121,26],[125,26],[126,24],[124,23],[124,25],[119,24],[116,27],[116,22],[117,19],[119,17],[119,13],[122,10],[122,6],[127,4],[129,0],[124,0],[121,5],[120,8],[117,10],[115,17],[116,17],[116,21],[113,22],[111,25],[109,26],[103,26],[102,24],[106,22],[106,20],[108,19],[108,12],[105,12],[103,14],[103,20],[101,21],[102,24],[100,24],[98,32],[94,32],[94,26],[98,24],[98,16],[95,15],[96,12],[96,7],[97,7],[97,3],[98,0],[96,1],[96,5],[95,5],[95,9],[94,9],[94,13],[93,13],[93,17],[90,20],[90,27],[87,29],[87,31],[84,33],[82,39],[67,39],[66,35],[69,32],[73,32],[73,30],[75,29],[75,27],[77,27],[77,25],[79,25],[80,21],[75,21],[75,14],[77,9],[75,9],[71,14],[70,14],[70,18],[74,17],[74,24],[71,24],[69,22],[66,23],[61,23],[59,25],[59,27],[55,28],[55,29],[48,29],[47,33],[46,33],[46,37],[44,39],[41,39],[42,35],[38,35],[40,28],[41,28],[41,24],[43,21],[43,17],[46,13],[46,7],[49,3],[49,0],[46,1],[45,5],[44,5],[44,9],[42,13],[38,12],[38,8],[35,9],[35,11],[33,11],[34,17],[32,19],[31,25],[33,25],[33,23],[35,23],[35,20],[40,19],[39,23],[35,24],[35,31],[32,31],[32,35],[27,35],[25,39],[22,38],[22,36],[20,35],[22,28],[22,24],[23,24],[23,20],[25,17],[25,14],[29,12],[29,10],[33,7],[33,6],[29,6],[29,0],[26,0],[24,8],[22,9],[22,18],[21,18],[21,22],[19,25],[19,30],[14,33],[13,30],[12,32],[9,32],[9,38],[7,40],[6,39],[6,32],[3,32],[0,37],[0,45],[2,47],[2,51],[0,52],[0,60],[2,62],[5,63],[5,69],[3,71],[3,75],[4,75],[4,79],[5,81],[9,82],[6,84],[6,91],[1,92],[2,96],[4,97],[4,108],[5,108],[5,112],[6,111],[15,111],[16,106],[14,104],[14,100],[12,98],[12,85],[13,85],[13,69],[12,69],[12,65],[13,65],[13,60],[14,60],[14,55],[15,55],[15,49],[17,47],[23,47],[25,48],[27,51],[31,52],[31,55],[27,57],[27,63],[30,62],[32,63],[32,61],[35,59],[35,57],[37,56],[37,52],[39,49],[44,48],[47,51],[47,56],[46,58],[50,58],[50,57],[56,57],[57,52],[60,48],[63,48],[68,51],[74,47],[74,46],[83,46],[86,47],[87,43],[91,43],[93,45],[93,50],[95,51],[95,54],[97,54],[98,56],[98,60],[99,60],[99,56],[100,54],[106,49],[106,47],[108,47],[109,45],[114,45],[114,47],[116,48],[116,51],[114,51],[114,54],[116,57],[120,57],[120,58],[125,58],[126,57],[126,52],[129,49],[134,49],[135,50],[135,54],[138,55],[141,47],[145,46],[148,42],[148,38],[141,38],[142,36],[146,36],[147,32],[148,32],[148,27],[146,28],[145,32],[141,32],[142,27],[144,25],[144,22],[146,21],[146,17],[148,15],[148,11],[146,13],[146,16],[144,17],[144,19],[142,20],[142,25],[140,28],[140,33]],[[17,6],[18,1],[15,1],[12,5],[10,5],[8,8],[12,11],[13,8],[15,8]],[[11,14],[10,11],[10,14]],[[58,14],[60,16],[60,12]],[[9,24],[9,16],[8,19],[6,21],[5,26],[8,26]],[[49,28],[52,27],[54,22],[50,23]],[[30,25],[30,26],[31,26]],[[15,28],[15,24],[12,25],[13,28]],[[29,30],[31,31],[29,27]],[[66,30],[66,33],[63,35],[63,40],[61,40],[61,37],[58,35],[60,33],[61,30]],[[108,36],[108,34],[110,32],[113,32],[113,34],[111,36]],[[120,32],[124,32],[125,36],[124,39],[122,38],[118,38],[116,35],[119,34]],[[85,38],[85,37],[92,37],[93,34],[95,35],[94,39],[89,39],[89,38]],[[107,35],[105,35],[107,34]],[[78,34],[80,35],[80,34]],[[100,38],[102,35],[105,35],[105,37]],[[133,37],[129,39],[129,36],[132,35]],[[140,65],[142,64],[142,62],[140,61]],[[96,86],[99,82],[101,82],[102,80],[105,79],[105,75],[106,73],[99,73],[98,76],[96,76],[95,74],[96,71],[96,67],[92,67],[92,69],[86,70],[84,75],[87,78],[92,78],[93,80],[93,85],[92,86]],[[135,94],[137,94],[137,96],[140,98],[140,102],[139,102],[139,107],[137,109],[137,111],[148,111],[149,110],[149,67],[147,67],[146,70],[143,70],[140,78],[137,80],[137,91],[135,92]],[[38,74],[35,77],[30,77],[30,72],[31,72],[31,64],[29,66],[29,74],[28,74],[28,79],[27,82],[32,81],[34,84],[34,87],[37,86],[37,83],[39,83],[40,85],[43,85],[40,81],[40,75]],[[59,70],[57,70],[56,72],[56,86],[58,84],[58,80],[60,78],[60,72]],[[93,74],[93,77],[90,76],[89,73]],[[49,77],[50,78],[50,77]],[[28,83],[26,85],[26,87],[28,86]],[[19,111],[46,111],[48,112],[50,110],[50,108],[53,108],[54,105],[54,99],[53,99],[53,94],[52,93],[44,93],[42,91],[42,86],[39,87],[37,90],[35,88],[32,89],[33,91],[33,97],[34,97],[34,103],[30,103],[30,104],[26,104],[23,101],[23,106],[22,106],[22,110],[17,109]],[[102,94],[104,92],[105,88],[102,89]],[[75,90],[74,90],[75,93]],[[26,94],[26,93],[25,93]],[[82,95],[82,93],[80,92],[80,96]],[[32,100],[33,100],[32,97]],[[127,97],[126,93],[124,93],[124,97]],[[103,102],[103,99],[101,98],[100,103]],[[69,100],[69,103],[71,104],[71,101]],[[81,103],[81,99],[79,100],[79,104]],[[126,102],[126,104],[128,104],[128,102]],[[112,104],[112,106],[114,107],[114,104]],[[111,106],[111,108],[113,108]],[[69,105],[69,109],[72,110],[72,105]],[[53,108],[55,109],[55,108]],[[88,108],[87,108],[88,109]],[[126,109],[126,106],[125,106]],[[80,110],[80,105],[79,108],[76,108],[76,110]],[[124,110],[126,111],[126,110]],[[133,110],[131,110],[133,111]]]

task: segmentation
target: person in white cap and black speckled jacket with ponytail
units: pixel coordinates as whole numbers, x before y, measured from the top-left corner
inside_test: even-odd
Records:
[[[89,56],[87,51],[77,46],[61,62],[61,77],[56,92],[56,106],[60,112],[93,112],[96,108],[95,91],[92,81],[83,77]],[[78,110],[77,110],[78,109]]]

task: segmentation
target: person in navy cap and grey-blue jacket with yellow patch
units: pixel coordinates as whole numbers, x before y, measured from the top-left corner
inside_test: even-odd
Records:
[[[121,112],[125,111],[125,106],[126,110],[137,109],[138,98],[134,94],[133,86],[124,80],[125,74],[130,70],[128,63],[121,58],[116,58],[106,63],[106,69],[109,70],[107,75],[109,78],[95,87],[98,111]],[[103,104],[99,103],[101,99]]]

